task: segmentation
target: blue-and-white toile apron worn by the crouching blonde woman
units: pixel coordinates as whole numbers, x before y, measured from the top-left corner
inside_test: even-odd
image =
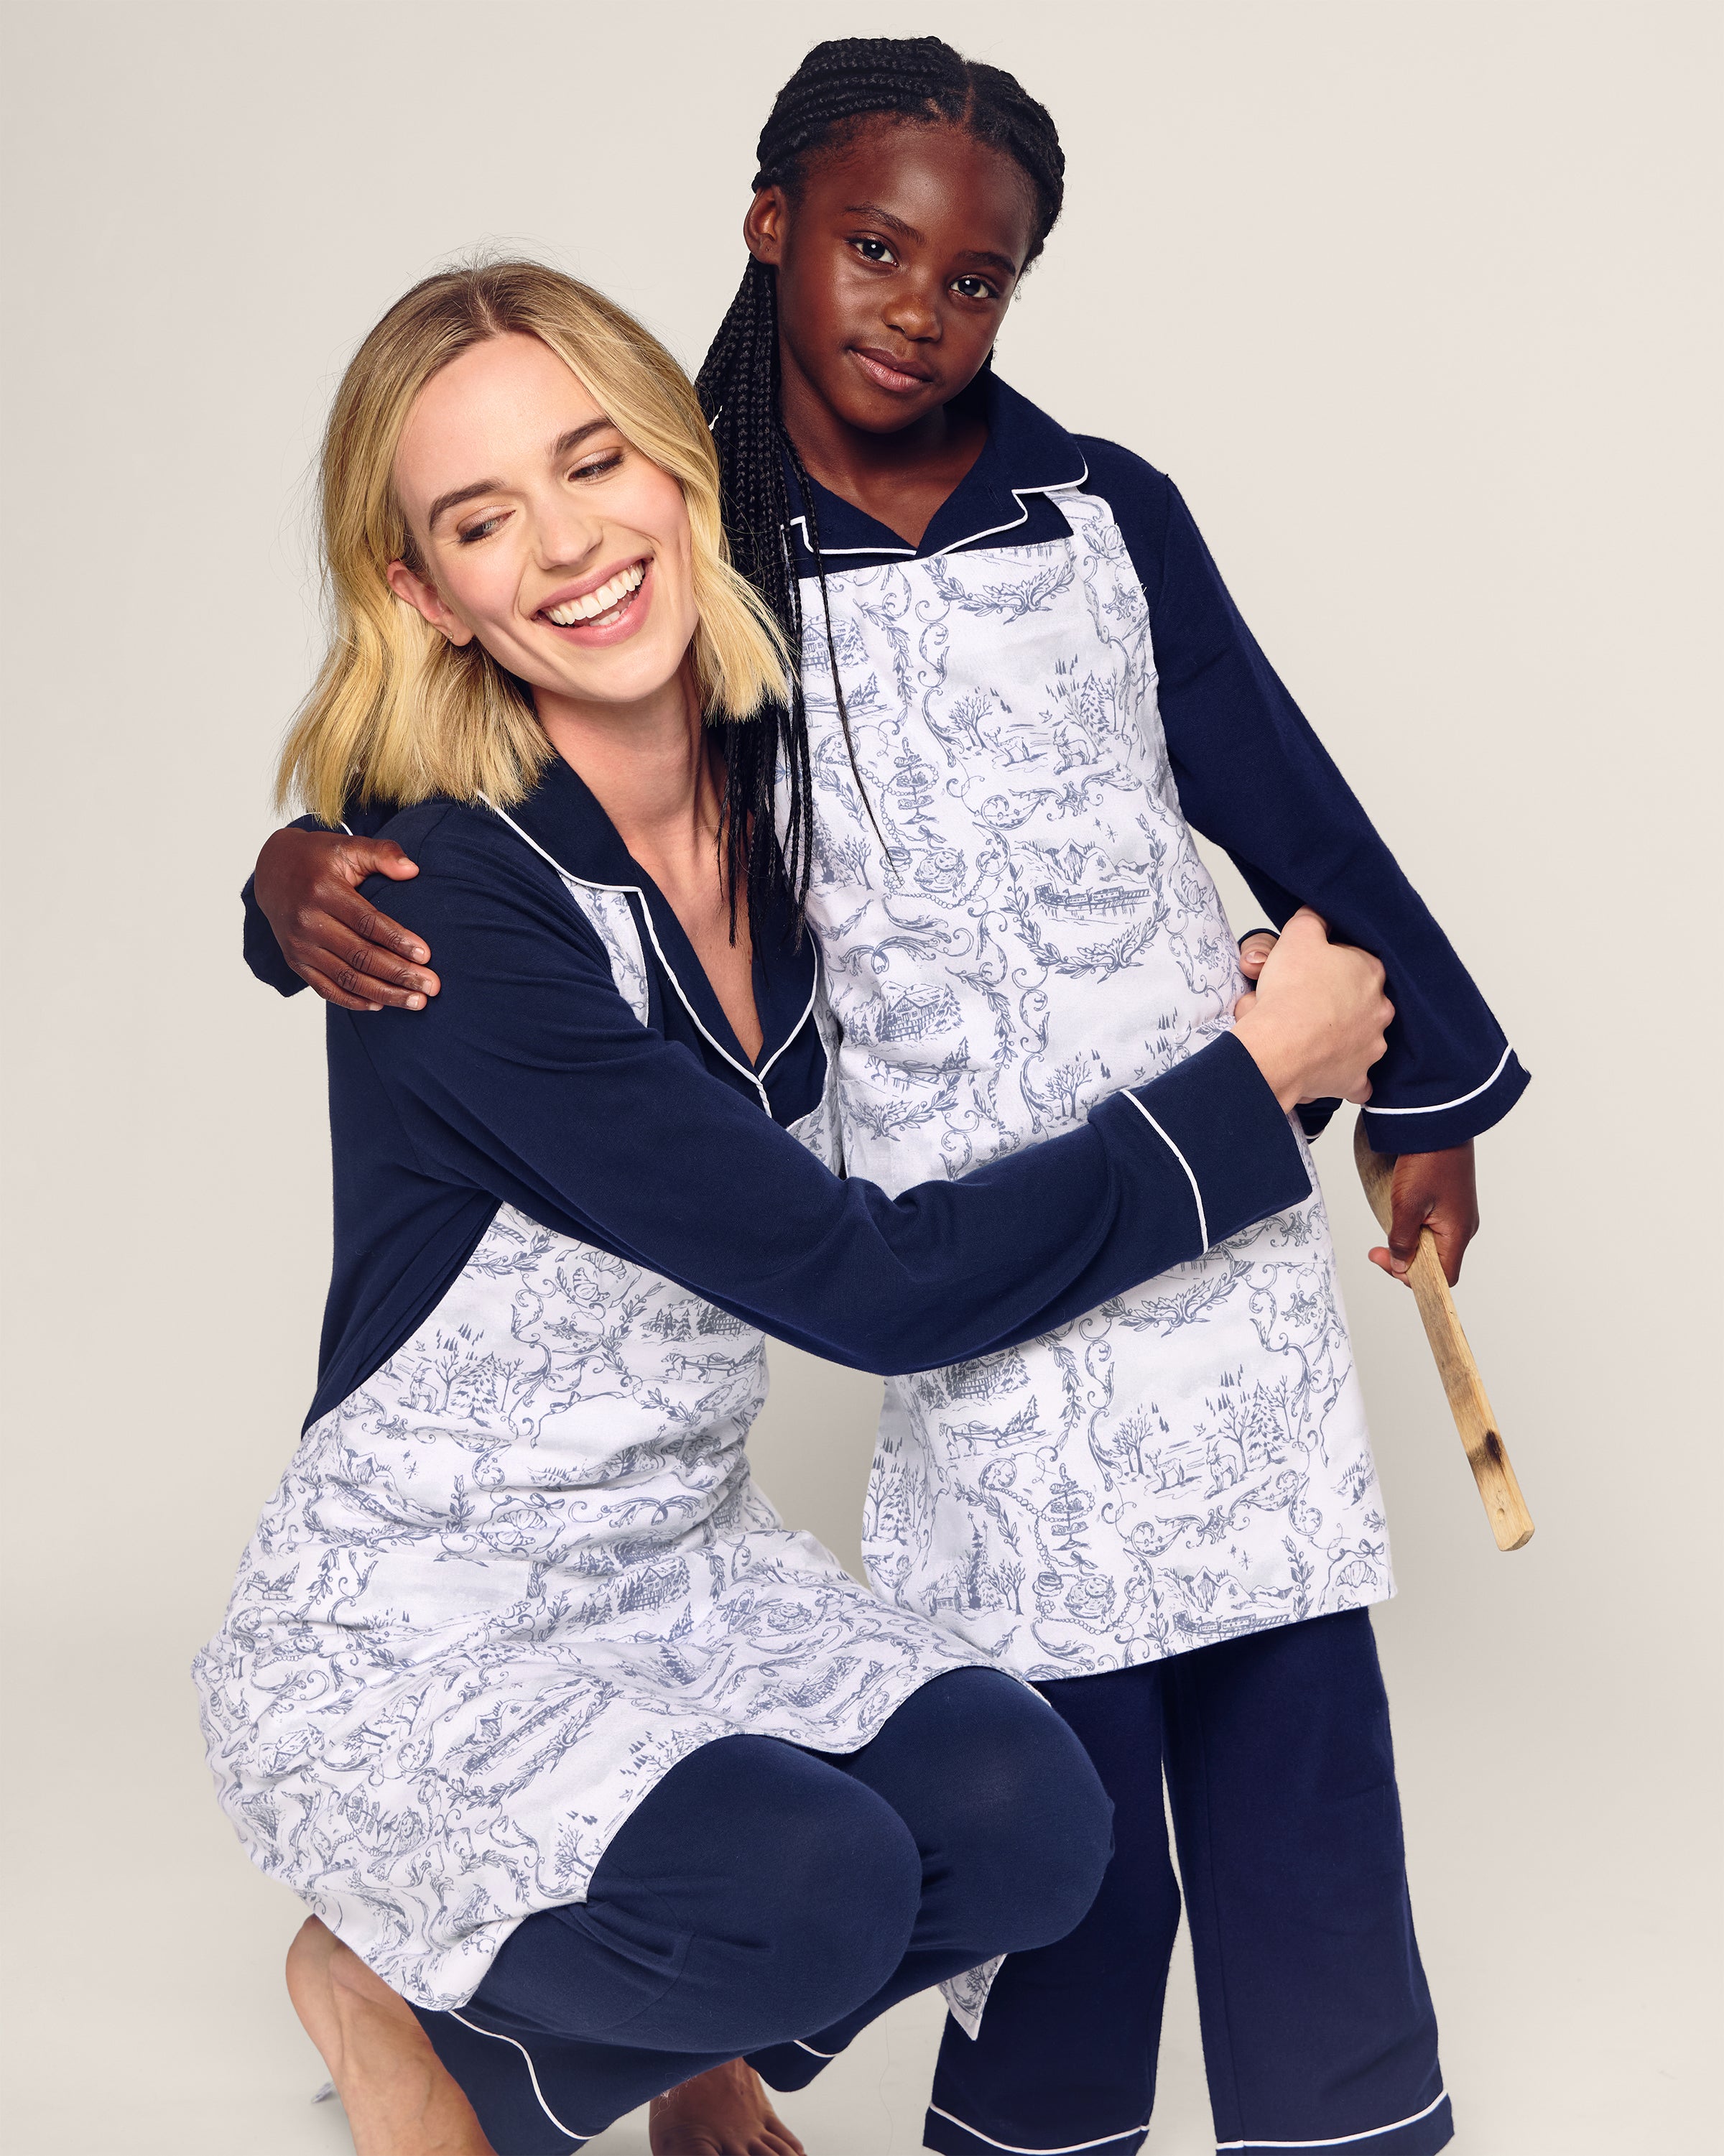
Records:
[[[618,990],[621,895],[567,880]],[[830,1158],[817,1108],[795,1136]],[[856,1751],[978,1656],[752,1488],[763,1337],[502,1205],[390,1360],[300,1442],[196,1664],[222,1807],[388,1984],[459,2007],[718,1738]]]

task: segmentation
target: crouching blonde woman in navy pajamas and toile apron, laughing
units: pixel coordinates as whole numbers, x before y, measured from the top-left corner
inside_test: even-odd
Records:
[[[323,543],[282,778],[407,804],[444,994],[330,1011],[319,1388],[198,1682],[360,2156],[532,2156],[1062,1936],[1108,1858],[1065,1723],[752,1490],[763,1332],[1006,1356],[1304,1199],[1287,1108],[1388,1011],[1308,923],[1067,1136],[845,1181],[815,951],[722,839],[782,651],[675,362],[532,263],[427,280],[336,395]],[[797,2143],[754,2106],[735,2147]]]

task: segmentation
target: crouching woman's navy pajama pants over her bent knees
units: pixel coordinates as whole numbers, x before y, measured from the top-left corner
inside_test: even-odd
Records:
[[[817,2031],[1060,1938],[1108,1867],[1108,1811],[1034,1692],[950,1671],[853,1753],[703,1744],[586,1902],[528,1917],[457,2014],[414,2012],[498,2156],[560,2156],[711,2065],[817,2063]]]

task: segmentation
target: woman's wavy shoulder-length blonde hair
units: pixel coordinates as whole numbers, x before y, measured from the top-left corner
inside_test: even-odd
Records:
[[[694,388],[621,306],[532,261],[446,270],[394,302],[336,390],[323,438],[323,567],[330,651],[282,748],[276,798],[323,824],[347,800],[409,804],[433,793],[517,802],[552,750],[524,681],[476,640],[450,645],[388,586],[418,567],[394,494],[394,453],[414,399],[489,336],[537,336],[616,431],[681,483],[694,539],[694,679],[709,718],[750,718],[784,696],[784,645],[731,567],[718,457]]]

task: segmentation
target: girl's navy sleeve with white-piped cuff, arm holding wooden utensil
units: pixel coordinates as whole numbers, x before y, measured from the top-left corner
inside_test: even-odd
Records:
[[[1489,1130],[1528,1078],[1485,998],[1241,621],[1179,489],[1114,444],[1086,448],[1149,597],[1185,817],[1276,925],[1312,906],[1384,962],[1396,1015],[1371,1074],[1371,1143],[1433,1151]]]

